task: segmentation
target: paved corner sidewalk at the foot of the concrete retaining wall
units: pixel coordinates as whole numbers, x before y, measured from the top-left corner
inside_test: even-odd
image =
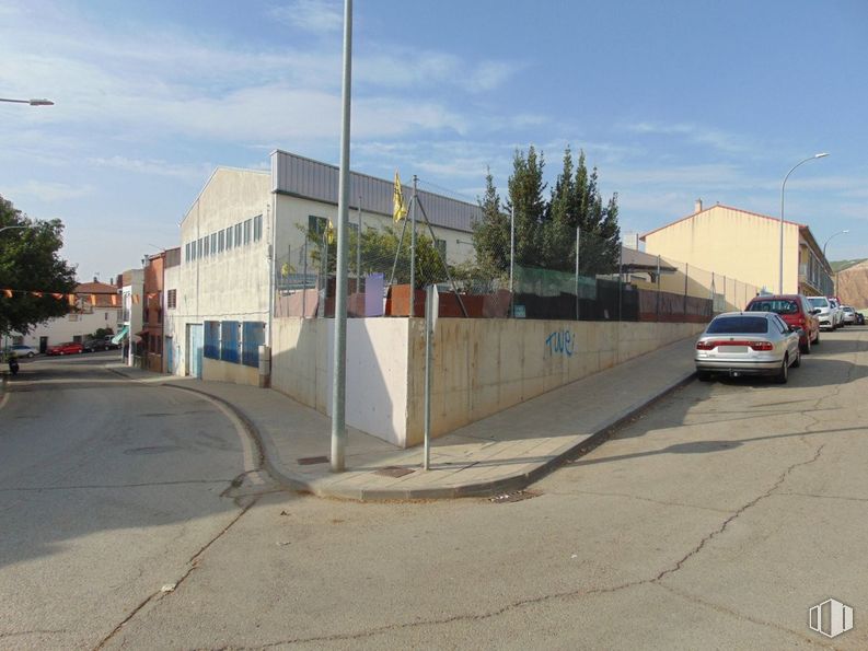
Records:
[[[333,474],[326,460],[331,419],[276,391],[119,363],[106,368],[222,400],[258,441],[266,469],[291,488],[354,500],[439,499],[524,488],[604,440],[612,428],[694,376],[694,340],[682,339],[436,439],[428,472],[421,469],[421,446],[403,450],[348,428],[347,470]]]

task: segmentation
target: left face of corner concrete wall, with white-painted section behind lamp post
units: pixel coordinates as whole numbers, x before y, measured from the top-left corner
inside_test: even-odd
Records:
[[[406,318],[347,322],[347,425],[406,444]],[[276,318],[271,387],[332,412],[334,319]]]

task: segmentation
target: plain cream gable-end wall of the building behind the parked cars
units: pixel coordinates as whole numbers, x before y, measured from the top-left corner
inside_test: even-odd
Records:
[[[645,236],[645,251],[777,292],[780,222],[713,206]],[[784,292],[799,288],[799,226],[784,222]],[[682,277],[683,280],[683,277]],[[683,288],[682,288],[683,291]]]

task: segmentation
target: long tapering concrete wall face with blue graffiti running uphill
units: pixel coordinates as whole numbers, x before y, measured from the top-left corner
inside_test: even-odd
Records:
[[[702,324],[441,318],[435,336],[432,434],[694,335]],[[424,322],[410,333],[407,445],[423,441]]]

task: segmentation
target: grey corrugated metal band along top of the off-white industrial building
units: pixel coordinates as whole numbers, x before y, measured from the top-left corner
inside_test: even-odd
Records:
[[[271,152],[271,190],[337,205],[338,168],[319,161],[286,151]],[[394,181],[375,178],[367,174],[350,172],[349,204],[367,212],[392,216],[392,190]],[[413,188],[404,187],[404,201],[409,204]],[[417,190],[419,201],[432,225],[471,232],[474,221],[482,211],[475,204],[459,201],[442,195]],[[418,216],[421,220],[421,214]]]

